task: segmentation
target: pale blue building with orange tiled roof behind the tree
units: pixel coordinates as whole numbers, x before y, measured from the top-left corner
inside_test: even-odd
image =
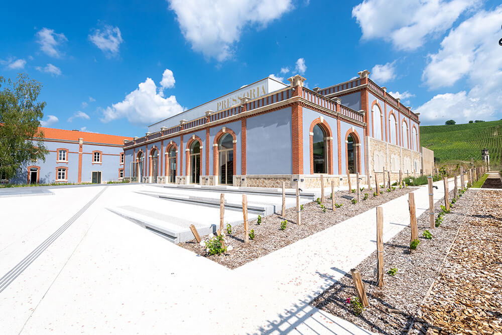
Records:
[[[124,142],[131,137],[40,127],[49,151],[30,162],[13,183],[104,183],[123,179]],[[7,182],[2,180],[2,182]]]

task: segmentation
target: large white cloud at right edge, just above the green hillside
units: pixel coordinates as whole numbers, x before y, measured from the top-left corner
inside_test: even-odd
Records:
[[[429,88],[451,86],[465,78],[469,89],[435,95],[416,109],[427,123],[454,119],[488,120],[502,110],[502,53],[500,39],[502,6],[480,11],[451,30],[441,49],[430,55],[422,79]],[[500,115],[497,116],[500,118]]]

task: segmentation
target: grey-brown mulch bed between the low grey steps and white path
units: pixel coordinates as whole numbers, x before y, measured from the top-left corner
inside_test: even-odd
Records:
[[[257,220],[249,221],[249,230],[253,229],[255,231],[255,239],[250,240],[248,245],[244,245],[243,225],[232,227],[232,234],[227,235],[226,244],[232,246],[233,250],[227,251],[221,255],[209,255],[206,252],[206,248],[200,246],[195,239],[180,243],[179,246],[207,257],[230,269],[235,269],[273,251],[309,237],[310,235],[321,232],[370,208],[380,206],[385,202],[407,194],[414,189],[415,188],[412,187],[406,189],[396,188],[396,190],[391,192],[382,189],[383,192],[379,196],[374,197],[373,187],[371,191],[363,190],[361,192],[361,201],[356,204],[352,204],[350,202],[351,200],[341,197],[342,195],[355,197],[354,193],[338,191],[335,192],[335,203],[343,204],[340,208],[335,208],[334,211],[332,210],[329,195],[325,197],[323,202],[326,207],[326,212],[323,212],[321,206],[316,202],[304,204],[300,226],[296,224],[296,207],[286,209],[286,215],[284,217],[280,214],[262,217],[261,225],[257,224]],[[328,191],[328,188],[326,188],[326,191]],[[369,195],[366,200],[362,200],[364,193],[368,193]],[[281,231],[281,221],[284,219],[288,220],[287,228],[285,231]],[[207,236],[201,236],[201,239],[207,239]]]

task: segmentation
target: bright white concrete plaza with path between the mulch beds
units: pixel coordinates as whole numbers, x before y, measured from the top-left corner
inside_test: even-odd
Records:
[[[437,201],[443,195],[442,182],[436,185]],[[0,293],[2,332],[367,333],[308,303],[375,249],[374,209],[229,270],[106,209],[150,205],[176,212],[179,203],[171,208],[169,201],[135,193],[150,187],[106,188]],[[22,210],[24,199],[9,199],[6,208],[3,199],[0,275],[101,189],[57,189],[54,196],[41,196],[40,201],[30,197],[37,199],[31,215]],[[420,215],[428,207],[427,189],[418,188],[415,193]],[[384,241],[409,224],[407,199],[383,205]],[[48,209],[63,205],[71,208]],[[199,216],[214,215],[211,209],[192,212],[199,209]],[[192,212],[184,210],[180,216]],[[216,210],[215,221],[217,217]]]

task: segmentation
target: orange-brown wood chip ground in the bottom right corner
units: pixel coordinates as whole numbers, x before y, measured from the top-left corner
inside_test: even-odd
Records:
[[[502,334],[500,191],[478,191],[414,333]]]

